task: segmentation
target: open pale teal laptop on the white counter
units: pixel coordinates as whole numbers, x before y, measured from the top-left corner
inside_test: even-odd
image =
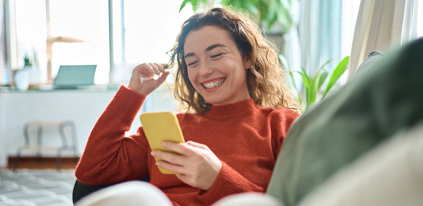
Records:
[[[61,65],[53,84],[54,89],[76,89],[94,84],[97,65]]]

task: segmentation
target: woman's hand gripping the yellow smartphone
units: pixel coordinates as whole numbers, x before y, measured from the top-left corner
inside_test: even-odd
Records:
[[[209,190],[217,179],[222,162],[204,144],[187,141],[187,143],[163,142],[166,149],[178,152],[176,155],[170,152],[154,150],[151,155],[162,160],[157,165],[169,171],[177,173],[177,177],[192,187]]]

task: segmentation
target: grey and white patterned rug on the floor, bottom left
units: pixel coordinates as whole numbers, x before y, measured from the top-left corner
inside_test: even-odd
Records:
[[[0,206],[73,206],[74,170],[1,169]]]

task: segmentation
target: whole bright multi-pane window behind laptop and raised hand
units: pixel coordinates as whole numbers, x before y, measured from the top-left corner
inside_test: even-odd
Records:
[[[51,37],[63,37],[77,43],[52,44],[52,77],[60,65],[97,65],[95,84],[109,83],[109,19],[105,0],[47,0]],[[133,66],[143,62],[166,63],[166,54],[175,43],[181,24],[192,15],[182,0],[113,0],[113,48],[115,84],[129,81]],[[124,5],[123,9],[121,5]],[[159,9],[157,9],[159,8]],[[16,0],[16,64],[36,55],[38,67],[47,81],[46,0]],[[123,11],[123,15],[121,12]],[[124,22],[124,27],[121,23]],[[123,34],[123,36],[122,36]],[[123,38],[122,38],[123,37]],[[122,50],[123,49],[123,50]],[[124,52],[122,52],[124,51]]]

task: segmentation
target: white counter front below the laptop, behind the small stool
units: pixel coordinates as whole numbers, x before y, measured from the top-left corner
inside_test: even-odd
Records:
[[[16,149],[24,144],[23,126],[34,120],[63,121],[74,120],[77,129],[79,155],[82,153],[88,136],[100,114],[115,95],[115,89],[104,91],[51,90],[27,92],[0,92],[0,166],[8,163],[8,156],[15,156]],[[146,100],[141,111],[174,111],[173,94],[159,89]],[[141,125],[138,118],[127,133],[136,132]],[[30,137],[36,136],[35,130]],[[33,139],[31,139],[33,142]],[[31,142],[31,143],[32,143]],[[61,141],[57,128],[43,130],[43,145],[57,146]],[[33,153],[22,153],[23,157],[36,157]],[[72,152],[64,152],[63,157],[72,157]],[[55,157],[53,152],[43,153],[43,157]]]

